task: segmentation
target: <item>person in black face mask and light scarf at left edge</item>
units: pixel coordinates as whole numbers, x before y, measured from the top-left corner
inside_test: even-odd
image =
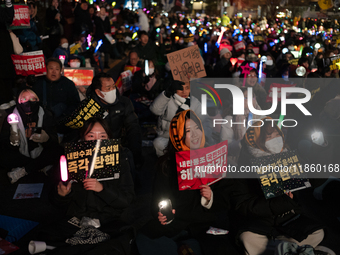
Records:
[[[7,175],[11,183],[39,170],[45,172],[57,164],[62,149],[59,147],[52,114],[39,106],[39,98],[31,89],[19,93],[12,114],[18,116],[17,130],[4,122],[1,129],[0,164],[12,169]]]

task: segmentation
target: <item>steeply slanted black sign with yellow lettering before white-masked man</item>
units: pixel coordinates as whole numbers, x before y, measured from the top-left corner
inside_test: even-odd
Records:
[[[104,109],[92,98],[81,101],[79,107],[67,118],[61,121],[66,127],[72,129],[82,128],[84,122],[93,117],[102,117],[107,114]]]

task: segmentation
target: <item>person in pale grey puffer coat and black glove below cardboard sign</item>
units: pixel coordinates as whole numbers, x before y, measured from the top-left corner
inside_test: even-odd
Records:
[[[201,112],[201,103],[196,97],[190,96],[190,82],[173,81],[150,105],[150,111],[159,116],[157,133],[153,141],[158,157],[164,154],[169,140],[169,127],[176,113],[192,109],[195,113]]]

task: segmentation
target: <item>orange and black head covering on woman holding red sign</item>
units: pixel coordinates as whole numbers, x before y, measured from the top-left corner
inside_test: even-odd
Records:
[[[176,148],[177,151],[188,151],[190,148],[183,141],[183,136],[185,134],[185,121],[186,117],[191,119],[191,116],[194,115],[194,119],[198,119],[199,123],[197,125],[202,130],[202,140],[200,144],[200,148],[204,147],[205,144],[205,136],[204,129],[202,126],[201,120],[197,117],[196,113],[191,110],[185,110],[179,112],[172,118],[170,123],[169,135],[172,145]]]

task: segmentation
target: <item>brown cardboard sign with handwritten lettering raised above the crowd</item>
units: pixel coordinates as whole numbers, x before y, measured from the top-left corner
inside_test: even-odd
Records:
[[[197,45],[167,54],[174,80],[183,82],[206,76]]]

